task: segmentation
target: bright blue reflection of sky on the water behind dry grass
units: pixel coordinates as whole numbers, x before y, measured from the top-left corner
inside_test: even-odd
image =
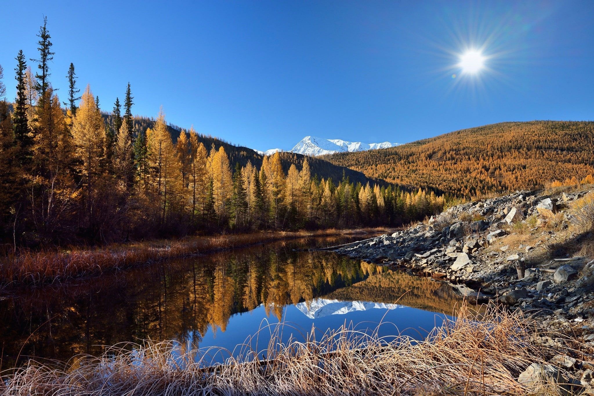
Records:
[[[345,302],[346,305],[351,303]],[[447,317],[451,318],[451,316]],[[435,326],[440,326],[444,318],[445,315],[440,313],[399,305],[397,309],[372,308],[311,319],[304,312],[299,311],[295,305],[287,305],[283,308],[285,325],[282,328],[281,338],[283,342],[289,340],[291,336],[297,341],[304,341],[305,334],[311,332],[312,326],[314,326],[316,338],[320,340],[324,332],[335,330],[345,324],[347,326],[351,325],[351,327],[355,325],[355,330],[371,334],[381,322],[378,336],[385,337],[386,341],[393,339],[391,337],[396,334],[421,340]],[[267,324],[271,326],[264,328]],[[247,340],[251,335],[257,334],[258,330],[263,328],[258,334],[258,340],[254,337],[251,344],[251,348],[260,352],[261,357],[261,351],[266,350],[268,341],[270,341],[270,333],[276,331],[277,324],[279,324],[279,320],[276,316],[267,316],[266,309],[260,305],[252,311],[231,316],[225,332],[219,329],[213,332],[212,327],[209,327],[198,347],[200,349],[208,347],[227,349],[229,352],[217,354],[216,358],[214,358],[215,362],[221,362],[224,358],[229,357],[229,353],[233,349],[236,349],[233,355],[237,356],[241,351],[241,346],[236,348],[238,343],[244,343],[244,340]],[[223,359],[221,356],[223,356]],[[206,359],[206,362],[210,361],[211,359]]]

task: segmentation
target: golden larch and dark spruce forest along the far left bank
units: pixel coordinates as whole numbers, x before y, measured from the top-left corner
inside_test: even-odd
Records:
[[[14,102],[5,98],[0,73],[0,239],[6,246],[393,226],[443,208],[446,198],[430,189],[355,182],[346,172],[341,179],[312,174],[305,157],[292,159],[288,169],[285,153],[261,163],[230,157],[226,144],[208,147],[193,128],[172,136],[163,110],[143,125],[132,116],[130,84],[124,103],[116,98],[112,112],[102,112],[90,86],[78,96],[73,64],[67,100],[60,102],[50,83],[47,19],[37,36],[39,54],[30,59],[37,71],[22,50],[15,58]]]

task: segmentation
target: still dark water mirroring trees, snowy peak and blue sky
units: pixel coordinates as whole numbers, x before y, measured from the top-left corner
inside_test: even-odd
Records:
[[[271,331],[303,340],[312,327],[321,336],[350,325],[377,328],[380,337],[423,338],[459,305],[450,287],[430,278],[295,250],[358,239],[364,237],[267,243],[5,296],[0,370],[148,339],[222,347],[211,359],[220,362],[252,335],[252,349],[266,349]]]

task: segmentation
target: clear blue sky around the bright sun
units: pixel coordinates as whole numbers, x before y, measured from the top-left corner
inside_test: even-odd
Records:
[[[501,121],[594,118],[589,0],[6,2],[9,98],[14,57],[37,57],[43,15],[61,100],[74,62],[104,110],[129,81],[134,113],[163,106],[169,122],[261,150],[305,135],[409,142]],[[468,48],[488,58],[477,75],[456,66]]]

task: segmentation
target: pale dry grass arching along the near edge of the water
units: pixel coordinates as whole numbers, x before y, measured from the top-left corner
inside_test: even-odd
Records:
[[[258,360],[263,351],[246,344],[241,357],[210,368],[208,356],[225,351],[182,350],[173,342],[113,347],[99,358],[73,359],[64,369],[30,362],[4,376],[0,390],[56,396],[563,394],[551,382],[536,387],[516,378],[531,363],[571,350],[537,343],[521,319],[499,308],[489,308],[480,320],[470,312],[463,307],[456,321],[424,341],[387,341],[340,328],[303,343],[272,337],[263,347],[267,361]]]

